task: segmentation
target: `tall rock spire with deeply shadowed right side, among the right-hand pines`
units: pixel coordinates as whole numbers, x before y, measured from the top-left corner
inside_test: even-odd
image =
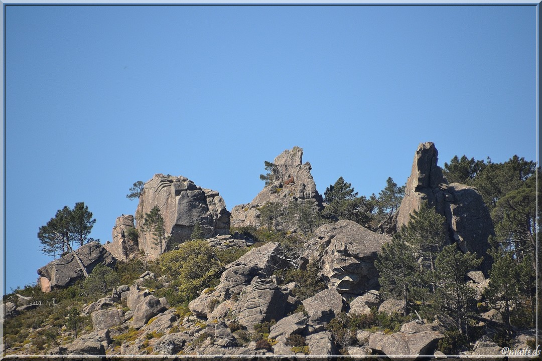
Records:
[[[482,269],[487,271],[491,266],[488,237],[494,234],[489,209],[475,188],[459,183],[449,185],[437,161],[438,151],[433,142],[418,146],[399,207],[397,229],[406,225],[410,214],[427,201],[438,214],[446,217],[450,244],[457,242],[463,252],[475,252],[478,257],[484,257]]]

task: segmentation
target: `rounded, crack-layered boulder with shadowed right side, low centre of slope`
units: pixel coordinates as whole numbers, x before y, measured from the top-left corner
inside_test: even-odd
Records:
[[[233,317],[249,330],[255,324],[279,320],[286,313],[288,296],[268,278],[255,277],[231,309]]]

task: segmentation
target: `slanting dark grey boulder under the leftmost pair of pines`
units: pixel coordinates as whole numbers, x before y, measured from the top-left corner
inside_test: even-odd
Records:
[[[115,259],[100,242],[91,242],[79,247],[72,253],[49,262],[37,270],[39,283],[43,292],[50,292],[53,287],[66,287],[83,277],[83,270],[89,274],[94,266],[102,263],[113,267]]]

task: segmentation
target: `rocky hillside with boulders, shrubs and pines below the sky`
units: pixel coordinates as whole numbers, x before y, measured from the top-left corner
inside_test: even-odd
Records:
[[[421,143],[405,186],[360,196],[343,178],[320,194],[302,156],[266,161],[262,191],[231,212],[154,175],[111,242],[61,244],[37,286],[4,296],[7,358],[537,349],[534,162],[441,168]]]

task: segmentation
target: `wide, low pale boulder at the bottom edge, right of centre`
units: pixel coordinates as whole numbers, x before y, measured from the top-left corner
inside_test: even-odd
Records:
[[[419,355],[433,355],[438,340],[444,338],[442,332],[436,324],[420,325],[411,321],[404,324],[399,332],[373,333],[369,337],[369,348],[389,355],[391,359],[414,361]]]

